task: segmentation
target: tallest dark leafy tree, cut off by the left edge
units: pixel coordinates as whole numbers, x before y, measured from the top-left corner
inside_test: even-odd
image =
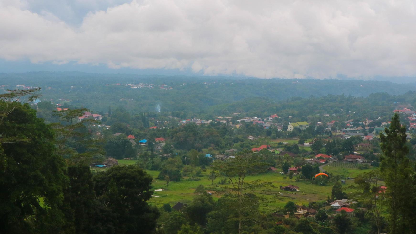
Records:
[[[56,233],[67,177],[52,129],[27,103],[1,100],[0,110],[0,233]]]

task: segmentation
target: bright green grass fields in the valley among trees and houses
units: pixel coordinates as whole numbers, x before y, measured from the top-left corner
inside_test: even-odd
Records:
[[[134,165],[136,160],[119,160],[119,165]],[[342,162],[335,162],[329,164],[324,167],[324,170],[328,172],[333,172],[335,174],[340,174],[344,177],[355,177],[356,175],[371,171],[371,169],[360,170],[355,168],[356,164],[347,164]],[[334,166],[333,166],[334,165]],[[97,168],[94,170],[106,170]],[[183,177],[183,180],[179,182],[169,182],[169,185],[166,185],[166,181],[158,180],[157,176],[159,171],[153,170],[146,170],[146,172],[153,177],[153,190],[163,189],[163,191],[154,192],[154,196],[159,197],[152,197],[149,203],[154,204],[158,207],[161,207],[163,204],[169,203],[171,206],[176,204],[176,202],[183,202],[187,203],[193,199],[195,196],[194,191],[198,185],[203,185],[207,191],[213,192],[213,198],[217,200],[221,197],[221,194],[215,192],[215,190],[220,189],[224,186],[230,185],[220,185],[218,181],[222,179],[219,177],[214,180],[214,184],[211,185],[211,181],[208,179],[208,171],[203,172],[202,177],[198,177],[200,180],[198,181],[189,181],[187,180],[188,177]],[[286,176],[288,177],[288,176]],[[261,180],[264,182],[272,182],[273,188],[270,188],[267,192],[258,191],[258,195],[264,196],[270,200],[270,202],[266,205],[263,204],[262,209],[270,209],[275,210],[277,208],[282,208],[288,201],[293,201],[295,204],[308,204],[309,202],[317,201],[317,200],[326,200],[329,195],[331,195],[332,185],[333,183],[328,183],[326,186],[321,185],[314,185],[310,181],[299,181],[295,182],[295,179],[291,182],[288,178],[286,180],[283,179],[283,175],[278,172],[266,172],[260,175],[249,176],[246,177],[246,182],[250,182],[253,180]],[[352,180],[347,180],[347,184],[343,185],[347,187],[351,184]],[[280,185],[295,185],[300,188],[298,192],[288,192],[280,190]],[[346,192],[350,192],[346,190]],[[280,194],[282,193],[282,194]],[[277,195],[277,197],[276,197]]]

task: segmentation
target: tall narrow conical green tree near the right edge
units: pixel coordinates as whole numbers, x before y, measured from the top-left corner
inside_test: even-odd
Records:
[[[400,117],[394,113],[390,128],[385,128],[385,135],[380,133],[381,156],[380,171],[384,175],[389,202],[391,233],[405,233],[414,227],[415,217],[409,211],[414,205],[414,182],[409,165],[409,148],[406,145],[406,126],[401,126]],[[406,188],[406,189],[404,189]],[[414,230],[413,230],[414,232]]]

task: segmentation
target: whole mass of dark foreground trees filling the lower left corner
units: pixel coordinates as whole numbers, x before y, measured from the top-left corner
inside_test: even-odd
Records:
[[[51,128],[16,101],[35,91],[0,95],[0,233],[154,232],[158,211],[146,203],[152,177],[136,166],[93,177],[79,157],[67,167],[65,142],[77,143],[83,126]]]

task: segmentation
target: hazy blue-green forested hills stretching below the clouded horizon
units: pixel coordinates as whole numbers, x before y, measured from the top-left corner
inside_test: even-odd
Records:
[[[131,89],[130,86],[126,86],[139,83],[153,84],[153,89]],[[389,81],[238,79],[220,76],[139,76],[81,72],[0,74],[0,85],[5,85],[3,91],[7,88],[14,89],[17,84],[42,87],[42,101],[62,103],[59,99],[69,99],[71,101],[67,105],[87,107],[100,113],[105,113],[109,106],[122,106],[132,113],[153,112],[159,105],[161,111],[180,111],[189,115],[201,115],[207,111],[237,112],[238,108],[235,108],[235,105],[243,106],[243,111],[254,112],[256,108],[265,108],[261,106],[264,105],[263,101],[261,104],[258,103],[260,106],[245,106],[244,103],[260,100],[284,105],[288,101],[313,99],[328,94],[367,97],[372,93],[398,95],[416,90],[416,83],[395,84]],[[162,84],[172,89],[160,89]],[[296,98],[293,99],[294,97]],[[302,105],[308,107],[305,103]],[[277,108],[275,105],[272,106],[274,109]],[[322,108],[325,106],[327,105],[323,103]],[[270,108],[270,105],[268,107]]]

